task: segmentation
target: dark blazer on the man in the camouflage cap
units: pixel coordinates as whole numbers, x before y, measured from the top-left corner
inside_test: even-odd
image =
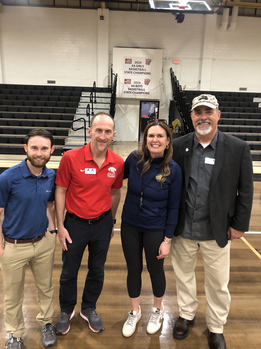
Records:
[[[195,132],[173,141],[173,159],[180,165],[183,178],[180,213],[174,236],[181,235],[184,228],[194,135]],[[253,165],[248,144],[218,131],[209,207],[214,237],[220,247],[228,243],[229,226],[248,231],[252,201]]]

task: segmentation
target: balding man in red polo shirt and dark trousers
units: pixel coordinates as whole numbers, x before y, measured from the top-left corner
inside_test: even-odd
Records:
[[[124,161],[108,149],[116,133],[109,114],[96,114],[88,133],[92,140],[86,146],[64,153],[55,180],[57,228],[63,248],[57,334],[70,329],[77,303],[77,276],[86,246],[88,273],[80,315],[92,331],[101,332],[104,328],[96,313],[96,302],[102,291],[104,263],[116,222]],[[63,221],[64,208],[67,212]]]

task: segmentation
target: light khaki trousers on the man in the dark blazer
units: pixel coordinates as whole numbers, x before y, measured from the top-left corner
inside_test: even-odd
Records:
[[[223,333],[223,325],[227,322],[230,307],[230,241],[226,247],[221,248],[215,240],[192,241],[181,236],[173,237],[171,261],[176,275],[180,316],[192,320],[196,314],[198,300],[194,270],[199,248],[205,270],[207,327],[211,332]]]

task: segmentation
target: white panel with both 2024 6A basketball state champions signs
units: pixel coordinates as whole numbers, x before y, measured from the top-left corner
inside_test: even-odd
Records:
[[[117,97],[160,98],[163,51],[113,48],[113,73],[118,74]]]

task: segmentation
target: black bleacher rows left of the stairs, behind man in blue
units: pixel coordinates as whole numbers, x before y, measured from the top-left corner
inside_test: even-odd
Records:
[[[23,136],[44,128],[54,136],[53,155],[62,155],[83,91],[88,88],[0,84],[0,153],[24,155]]]

